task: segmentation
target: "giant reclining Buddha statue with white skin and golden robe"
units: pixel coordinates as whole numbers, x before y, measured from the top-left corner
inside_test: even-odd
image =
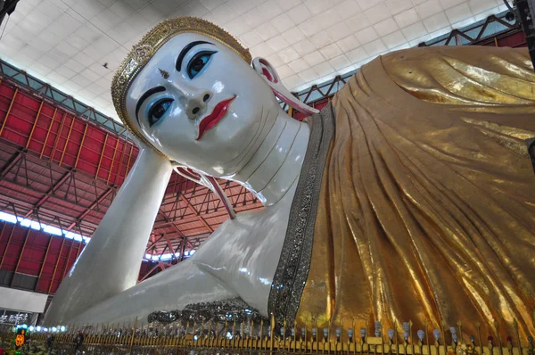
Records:
[[[407,49],[299,121],[276,96],[313,109],[269,62],[208,21],[164,21],[112,81],[140,153],[45,324],[146,322],[202,303],[332,329],[460,321],[466,334],[495,322],[534,334],[534,86],[525,49]],[[136,284],[178,164],[265,208]]]

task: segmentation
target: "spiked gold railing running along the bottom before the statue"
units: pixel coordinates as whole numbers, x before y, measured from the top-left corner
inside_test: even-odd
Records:
[[[179,322],[170,325],[152,323],[144,326],[136,323],[128,325],[74,325],[65,332],[53,333],[53,349],[56,353],[74,353],[78,334],[84,335],[83,350],[100,354],[148,354],[182,353],[198,351],[202,353],[323,353],[323,354],[366,354],[366,355],[535,355],[533,338],[521,340],[507,336],[506,339],[481,340],[478,336],[465,339],[462,326],[449,328],[449,340],[439,330],[431,332],[418,330],[413,334],[412,324],[404,323],[399,331],[388,329],[383,332],[381,324],[375,323],[374,336],[367,334],[366,328],[336,329],[330,334],[327,328],[284,325],[275,331],[275,321],[256,327],[252,322],[213,323]],[[402,333],[401,333],[402,332]],[[498,332],[499,333],[499,332]],[[51,333],[29,332],[27,345],[46,348]],[[377,336],[378,335],[378,336]],[[15,333],[0,328],[0,340],[14,340]],[[59,351],[59,352],[58,352]],[[154,352],[156,351],[156,352]],[[27,353],[37,353],[27,351]]]

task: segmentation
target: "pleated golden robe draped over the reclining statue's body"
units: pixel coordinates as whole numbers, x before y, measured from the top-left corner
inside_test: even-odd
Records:
[[[517,321],[523,342],[535,334],[527,50],[387,54],[350,78],[333,114],[295,320],[331,334],[411,320],[413,335],[460,321],[465,336],[480,322],[485,339],[495,321],[514,336]]]

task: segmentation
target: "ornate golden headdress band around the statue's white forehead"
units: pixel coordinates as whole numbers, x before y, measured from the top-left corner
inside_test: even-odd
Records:
[[[135,125],[128,117],[126,107],[126,95],[128,88],[136,78],[137,74],[144,68],[154,54],[165,45],[169,39],[181,33],[197,33],[206,37],[217,40],[219,43],[226,45],[236,54],[239,54],[247,63],[251,63],[251,54],[249,50],[232,37],[225,29],[210,21],[194,17],[177,17],[162,21],[147,33],[143,39],[134,45],[127,58],[119,66],[111,80],[111,97],[113,105],[119,115],[119,119],[125,124],[128,130],[136,137],[141,139],[145,144],[149,144],[156,149],[148,140],[139,132]],[[156,151],[158,151],[156,149]]]

